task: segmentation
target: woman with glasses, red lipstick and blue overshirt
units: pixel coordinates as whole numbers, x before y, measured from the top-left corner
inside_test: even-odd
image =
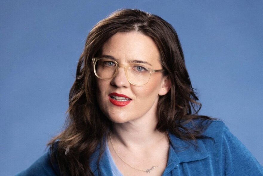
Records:
[[[65,130],[19,175],[263,175],[197,101],[173,27],[116,11],[88,34]]]

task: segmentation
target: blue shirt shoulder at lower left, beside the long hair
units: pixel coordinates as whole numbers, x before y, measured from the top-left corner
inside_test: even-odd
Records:
[[[36,160],[29,168],[18,173],[16,176],[53,176],[60,175],[58,165],[55,162],[51,162],[50,150]]]

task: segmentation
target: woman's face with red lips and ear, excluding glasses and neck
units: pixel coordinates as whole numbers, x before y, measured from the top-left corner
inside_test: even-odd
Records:
[[[103,45],[101,57],[104,56],[114,58],[119,64],[140,63],[150,69],[162,69],[155,42],[142,33],[116,33]],[[159,95],[166,94],[169,85],[162,72],[152,74],[143,86],[132,85],[126,78],[124,67],[120,67],[114,78],[97,78],[97,101],[103,113],[115,123],[157,120]],[[126,99],[120,101],[122,97]]]

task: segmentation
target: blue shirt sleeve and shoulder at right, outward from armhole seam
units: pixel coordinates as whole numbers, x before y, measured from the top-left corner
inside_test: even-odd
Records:
[[[204,136],[212,138],[202,142],[210,158],[221,163],[225,175],[263,175],[263,167],[224,122],[211,121]]]

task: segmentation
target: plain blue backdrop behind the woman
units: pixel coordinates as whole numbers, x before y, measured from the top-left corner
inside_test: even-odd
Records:
[[[0,175],[14,175],[61,131],[91,27],[120,8],[178,32],[203,104],[263,164],[263,1],[0,1]]]

